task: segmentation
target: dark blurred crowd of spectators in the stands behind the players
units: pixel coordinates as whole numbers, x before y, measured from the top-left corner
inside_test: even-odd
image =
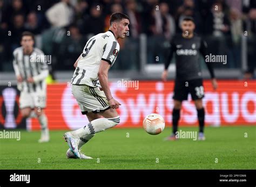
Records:
[[[255,66],[256,0],[0,0],[0,71],[12,70],[12,52],[20,46],[23,31],[37,36],[36,46],[52,56],[52,69],[72,69],[88,37],[109,29],[113,12],[130,17],[129,37],[119,40],[114,69],[140,68],[142,33],[147,63],[164,63],[185,16],[194,18],[210,53],[228,55],[228,64],[216,68],[241,68],[242,35],[247,37],[247,70]]]

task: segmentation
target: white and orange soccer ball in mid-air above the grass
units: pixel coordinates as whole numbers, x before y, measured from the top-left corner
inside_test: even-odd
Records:
[[[149,134],[160,134],[164,131],[164,118],[157,113],[149,114],[143,120],[143,128]]]

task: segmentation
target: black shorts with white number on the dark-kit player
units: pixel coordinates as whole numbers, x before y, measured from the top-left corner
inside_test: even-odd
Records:
[[[203,98],[204,86],[203,79],[198,78],[190,81],[175,80],[173,99],[174,100],[187,100],[188,93],[191,94],[192,100]]]

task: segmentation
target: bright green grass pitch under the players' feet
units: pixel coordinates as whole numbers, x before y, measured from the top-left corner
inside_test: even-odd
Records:
[[[93,159],[82,160],[66,159],[64,131],[51,131],[48,143],[37,142],[40,132],[22,131],[20,141],[0,139],[0,169],[256,169],[254,126],[206,127],[205,141],[163,141],[170,132],[109,129],[83,146]]]

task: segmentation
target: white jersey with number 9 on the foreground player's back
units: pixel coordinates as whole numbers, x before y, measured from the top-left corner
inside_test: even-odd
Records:
[[[98,78],[100,60],[109,62],[112,67],[119,49],[118,41],[110,30],[90,38],[84,47],[81,58],[78,60],[71,83],[100,87]]]

